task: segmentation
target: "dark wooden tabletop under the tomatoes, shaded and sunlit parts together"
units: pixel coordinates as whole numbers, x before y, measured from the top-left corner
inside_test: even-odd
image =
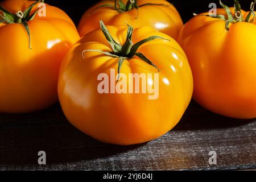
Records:
[[[38,164],[38,151],[47,164]],[[208,153],[216,151],[217,165]],[[59,104],[32,114],[0,114],[0,169],[256,169],[256,121],[221,117],[192,102],[163,137],[135,146],[94,140]]]

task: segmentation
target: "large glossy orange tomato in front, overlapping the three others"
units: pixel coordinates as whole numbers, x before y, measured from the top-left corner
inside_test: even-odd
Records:
[[[102,23],[101,28],[112,46],[102,30],[92,31],[75,44],[61,65],[59,100],[68,120],[93,138],[122,145],[143,143],[171,130],[187,108],[193,90],[192,73],[179,44],[148,26],[134,31],[130,26],[128,31],[126,26],[108,26],[110,34]],[[145,44],[134,51],[141,40]],[[139,84],[130,79],[136,73],[144,76]],[[107,77],[105,93],[98,90],[102,74]],[[143,90],[146,84],[158,88],[158,97],[149,99],[150,92],[133,92]]]

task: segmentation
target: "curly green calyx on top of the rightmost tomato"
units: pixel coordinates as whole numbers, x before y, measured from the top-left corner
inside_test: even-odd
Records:
[[[226,22],[226,30],[229,31],[229,24],[230,23],[238,23],[238,22],[247,22],[247,23],[253,23],[255,21],[255,13],[254,13],[254,6],[256,4],[256,0],[251,2],[251,7],[250,7],[250,13],[246,16],[243,17],[242,11],[241,11],[241,5],[238,0],[234,0],[234,15],[232,14],[231,10],[229,9],[228,6],[226,6],[224,3],[221,2],[220,0],[220,5],[225,9],[227,17],[222,14],[212,14],[212,15],[206,15],[206,16],[211,16],[213,18],[219,18],[222,20],[225,20]],[[252,16],[252,18],[251,18]]]

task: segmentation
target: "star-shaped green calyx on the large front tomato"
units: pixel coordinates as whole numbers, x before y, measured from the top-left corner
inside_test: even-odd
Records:
[[[153,67],[155,67],[156,69],[158,69],[154,63],[152,63],[149,59],[147,59],[146,56],[143,55],[143,53],[137,52],[138,48],[142,44],[150,42],[151,40],[155,40],[155,39],[163,39],[163,40],[167,40],[167,41],[170,41],[170,40],[162,38],[161,36],[150,36],[149,38],[143,39],[143,40],[133,44],[133,41],[131,39],[132,35],[133,35],[133,27],[128,25],[126,42],[123,45],[121,45],[121,44],[118,44],[117,42],[115,42],[115,40],[113,39],[112,35],[110,35],[108,29],[106,28],[106,26],[102,22],[102,20],[100,21],[100,27],[101,27],[103,34],[105,35],[105,38],[108,40],[110,46],[112,47],[113,51],[112,52],[104,52],[104,51],[100,51],[97,49],[88,49],[88,50],[82,51],[83,58],[84,58],[84,53],[86,51],[96,51],[96,52],[103,53],[104,55],[107,55],[107,56],[117,57],[118,58],[118,80],[119,80],[119,73],[121,72],[121,67],[122,67],[123,61],[129,60],[129,59],[133,58],[134,56],[138,56],[139,59],[141,59],[142,61],[144,61],[147,64],[150,64]],[[159,69],[158,69],[158,71],[159,71]]]

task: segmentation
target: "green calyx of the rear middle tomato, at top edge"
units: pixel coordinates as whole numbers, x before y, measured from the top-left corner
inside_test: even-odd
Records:
[[[124,11],[130,11],[132,9],[137,9],[137,11],[138,11],[138,9],[140,7],[143,7],[143,6],[170,6],[170,5],[164,5],[164,4],[161,4],[161,3],[159,3],[159,4],[145,3],[143,5],[138,6],[137,5],[137,0],[129,0],[129,1],[127,1],[126,4],[123,3],[122,0],[114,0],[114,2],[115,2],[114,5],[105,4],[105,5],[101,5],[101,6],[96,7],[96,9],[99,9],[101,7],[110,7],[114,10],[117,10],[119,13],[122,13]],[[94,10],[96,10],[96,9],[94,9]]]

